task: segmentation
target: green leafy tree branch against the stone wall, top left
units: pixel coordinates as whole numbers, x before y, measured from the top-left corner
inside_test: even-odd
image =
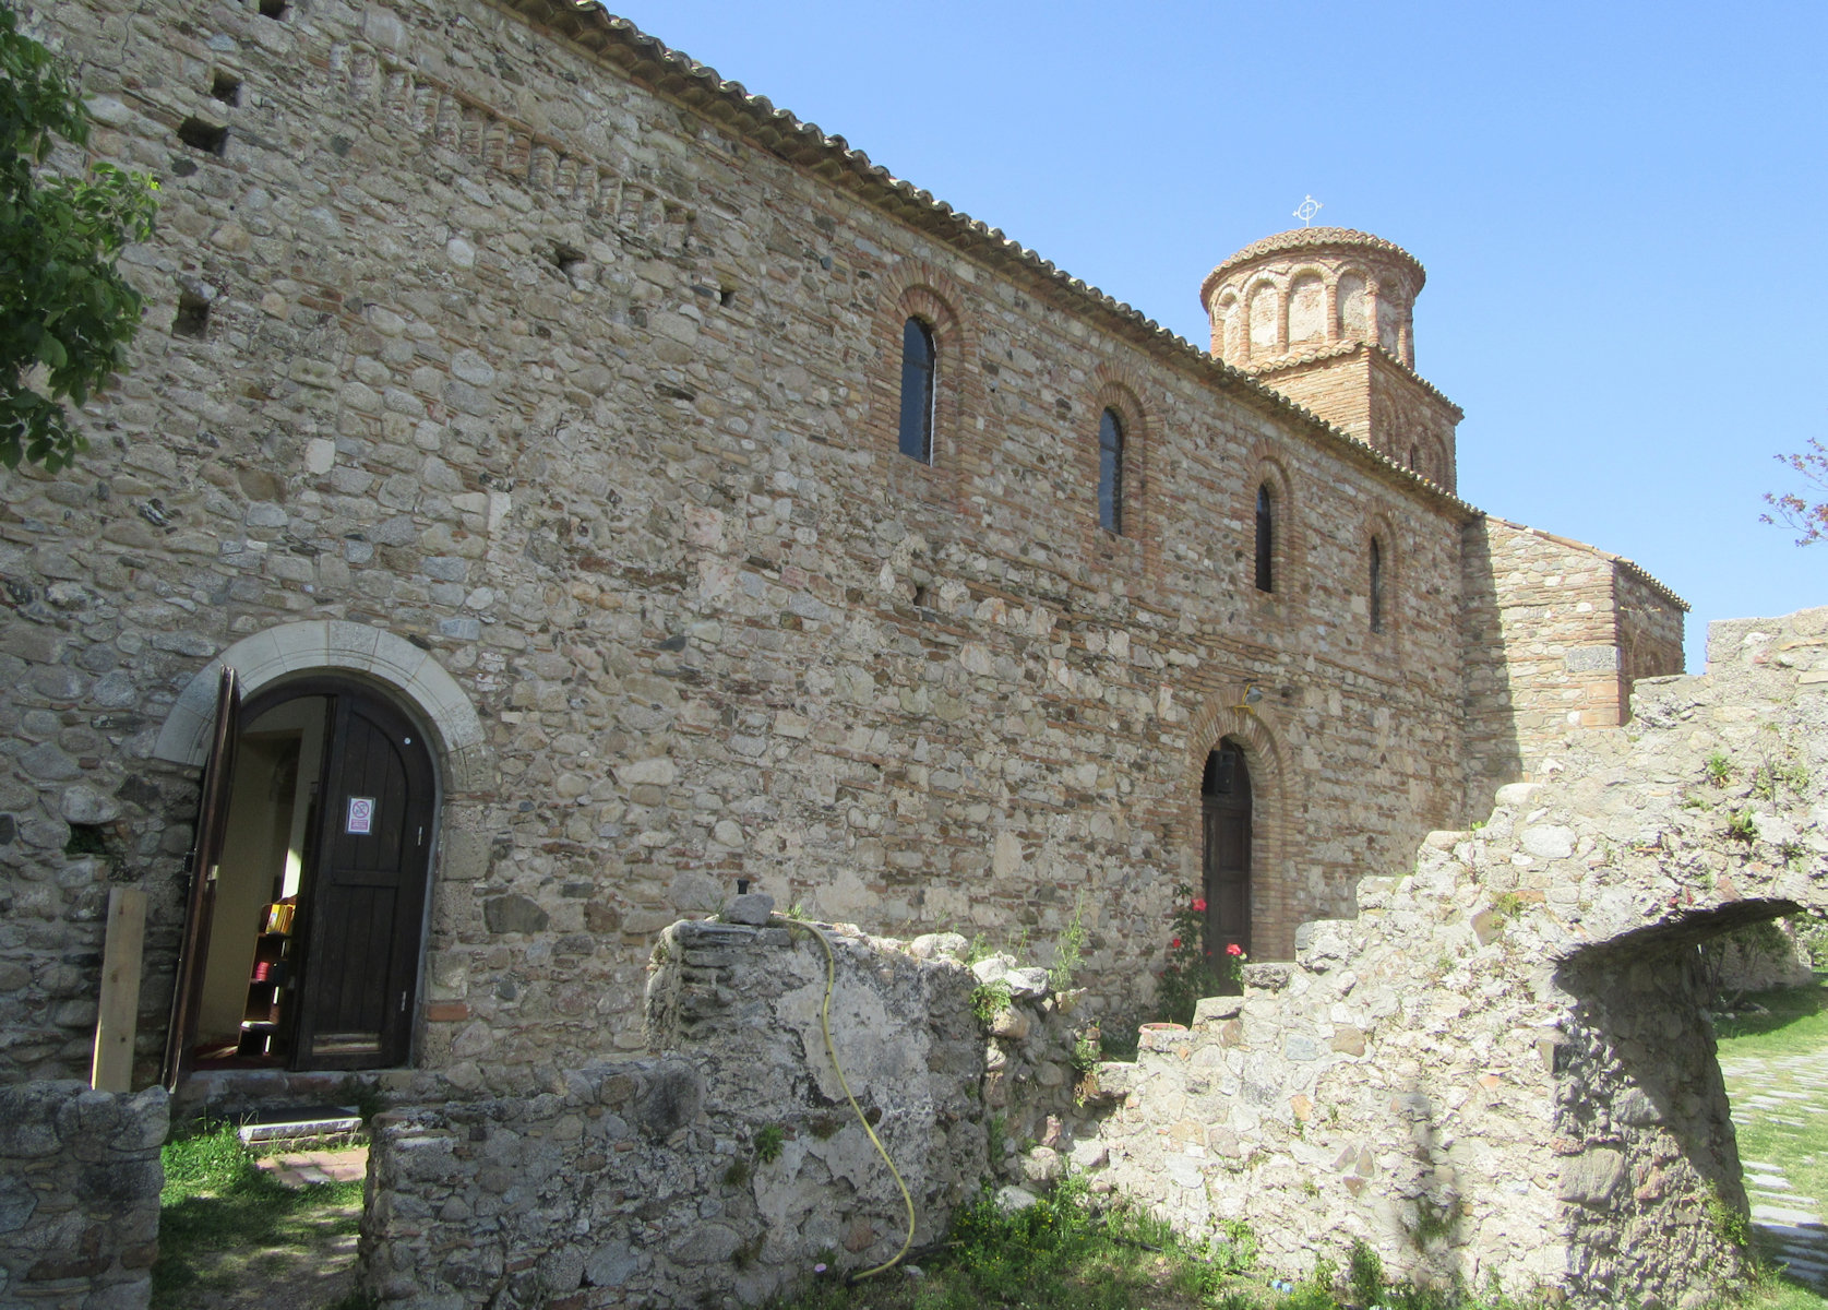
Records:
[[[51,51],[0,0],[0,463],[49,470],[84,448],[64,401],[88,403],[124,366],[141,295],[115,269],[152,236],[157,183],[97,163],[46,172],[57,139],[88,146],[90,117]]]

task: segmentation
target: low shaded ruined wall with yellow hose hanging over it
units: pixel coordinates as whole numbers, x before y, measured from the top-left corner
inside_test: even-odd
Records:
[[[826,1054],[812,931],[775,917],[662,933],[651,1058],[506,1094],[515,1070],[417,1074],[409,1105],[375,1123],[362,1288],[400,1310],[755,1303],[817,1262],[890,1259],[907,1209]],[[1058,1176],[1082,1116],[1077,993],[1007,961],[974,973],[956,935],[828,931],[832,1041],[909,1186],[914,1248],[985,1176]],[[980,975],[1015,993],[989,1037],[972,1015]],[[1027,1154],[1022,1138],[1036,1140]]]

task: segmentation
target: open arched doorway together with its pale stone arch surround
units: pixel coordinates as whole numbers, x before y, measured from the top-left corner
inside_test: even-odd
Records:
[[[192,679],[154,754],[203,765],[166,1085],[409,1063],[441,811],[492,776],[450,673],[384,629],[272,628]]]

